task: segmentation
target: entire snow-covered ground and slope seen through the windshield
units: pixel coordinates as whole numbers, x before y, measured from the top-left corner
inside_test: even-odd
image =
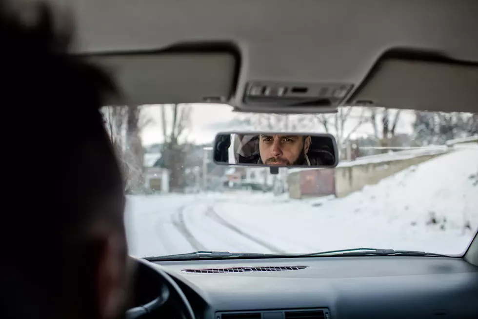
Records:
[[[139,257],[356,247],[461,254],[478,229],[478,149],[441,155],[340,199],[246,192],[131,196],[126,218],[130,254]]]

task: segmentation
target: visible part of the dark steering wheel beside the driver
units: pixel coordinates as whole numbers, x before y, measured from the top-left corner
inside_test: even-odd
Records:
[[[183,319],[195,319],[193,309],[178,284],[169,276],[161,266],[149,261],[133,258],[138,267],[137,271],[146,272],[150,284],[158,287],[158,297],[143,305],[126,311],[126,319],[139,319],[152,312],[158,311],[166,304],[171,304]]]

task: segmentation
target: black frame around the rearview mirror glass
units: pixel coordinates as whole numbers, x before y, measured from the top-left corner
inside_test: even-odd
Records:
[[[224,163],[224,162],[217,162],[214,157],[214,152],[216,149],[216,145],[218,143],[218,137],[221,135],[225,134],[238,134],[238,133],[244,133],[244,134],[250,134],[250,135],[259,135],[263,133],[268,133],[268,134],[281,134],[281,135],[314,135],[317,137],[326,137],[332,139],[332,144],[334,146],[334,156],[335,156],[335,162],[331,166],[303,166],[303,165],[291,165],[291,166],[274,166],[274,165],[267,165],[267,164],[256,164],[256,165],[251,165],[249,163]],[[232,145],[231,141],[231,145]],[[217,165],[227,165],[227,166],[248,166],[248,167],[269,167],[269,168],[287,168],[287,169],[292,169],[292,168],[300,168],[300,169],[306,169],[306,170],[311,170],[311,169],[333,169],[336,168],[337,165],[339,165],[339,149],[337,146],[337,141],[334,137],[334,135],[330,133],[316,133],[316,132],[292,132],[292,131],[269,131],[269,130],[263,130],[263,131],[239,131],[239,130],[234,130],[234,131],[223,131],[223,132],[218,132],[216,134],[216,137],[214,138],[214,146],[212,147],[212,159],[213,162]]]

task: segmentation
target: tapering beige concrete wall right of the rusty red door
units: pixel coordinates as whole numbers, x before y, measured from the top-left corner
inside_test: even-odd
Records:
[[[441,154],[422,155],[408,159],[361,164],[350,167],[337,167],[335,171],[336,196],[344,197],[351,192],[360,191],[365,185],[377,184],[385,177],[439,155]]]

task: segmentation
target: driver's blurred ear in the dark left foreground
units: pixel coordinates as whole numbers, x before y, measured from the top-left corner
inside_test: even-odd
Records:
[[[124,311],[126,297],[124,238],[111,231],[100,235],[98,240],[101,249],[96,280],[98,311],[103,319],[115,319]]]

